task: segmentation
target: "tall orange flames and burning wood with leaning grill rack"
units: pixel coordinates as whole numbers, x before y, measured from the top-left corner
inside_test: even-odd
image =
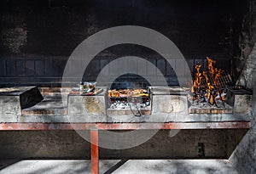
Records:
[[[216,68],[214,60],[207,57],[207,62],[207,70],[195,65],[192,104],[211,104],[224,108],[227,90],[233,86],[231,77],[224,70]]]

